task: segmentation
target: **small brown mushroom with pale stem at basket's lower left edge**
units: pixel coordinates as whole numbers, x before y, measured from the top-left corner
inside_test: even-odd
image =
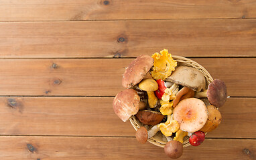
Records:
[[[159,131],[157,125],[153,126],[148,131],[145,127],[139,127],[139,129],[137,129],[136,131],[135,137],[137,141],[139,141],[139,143],[144,144],[147,142],[147,139],[153,137],[157,133],[157,131]]]

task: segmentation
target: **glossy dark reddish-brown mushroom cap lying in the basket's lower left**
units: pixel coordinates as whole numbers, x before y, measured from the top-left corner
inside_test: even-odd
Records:
[[[144,125],[157,125],[164,119],[164,115],[155,111],[138,111],[136,117]]]

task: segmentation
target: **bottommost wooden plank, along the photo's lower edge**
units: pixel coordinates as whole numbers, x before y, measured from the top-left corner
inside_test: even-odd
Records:
[[[0,158],[15,159],[170,159],[162,147],[121,137],[0,137]],[[30,151],[28,147],[30,147]],[[180,159],[255,159],[255,139],[206,139],[186,147]]]

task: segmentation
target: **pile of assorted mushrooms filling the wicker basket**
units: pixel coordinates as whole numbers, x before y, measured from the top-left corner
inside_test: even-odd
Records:
[[[123,73],[122,85],[126,89],[113,101],[117,116],[125,122],[135,115],[143,124],[135,134],[139,143],[161,132],[168,140],[164,151],[174,159],[183,153],[184,137],[190,136],[190,144],[197,146],[205,133],[218,127],[218,107],[227,99],[223,81],[215,79],[206,89],[204,75],[193,67],[177,66],[166,49],[133,60]]]

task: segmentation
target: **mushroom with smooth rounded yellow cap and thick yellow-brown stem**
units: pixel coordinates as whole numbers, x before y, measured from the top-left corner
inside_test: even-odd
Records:
[[[158,89],[157,82],[154,79],[144,79],[139,83],[139,88],[143,91],[147,91],[148,104],[150,108],[157,107],[158,99],[155,97],[155,93]]]

